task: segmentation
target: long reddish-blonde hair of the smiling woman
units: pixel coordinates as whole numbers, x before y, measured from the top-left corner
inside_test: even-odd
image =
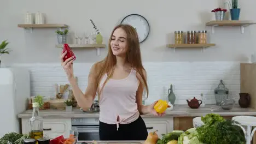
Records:
[[[101,91],[102,91],[104,85],[106,85],[109,78],[112,77],[113,72],[114,72],[113,67],[117,63],[117,58],[113,55],[112,50],[111,50],[111,46],[110,46],[110,42],[112,40],[112,35],[113,35],[115,29],[117,29],[117,28],[122,28],[127,34],[128,50],[127,50],[127,53],[126,53],[126,61],[141,76],[142,81],[141,81],[141,79],[139,79],[139,80],[144,85],[144,88],[146,88],[147,98],[148,98],[148,85],[147,85],[147,81],[146,81],[146,75],[143,74],[143,70],[145,70],[145,69],[142,65],[141,50],[140,50],[140,47],[139,47],[138,34],[136,32],[136,29],[133,28],[132,26],[120,24],[120,25],[116,26],[113,29],[113,31],[110,35],[110,38],[109,38],[109,41],[108,41],[108,55],[107,55],[107,57],[104,58],[103,61],[100,61],[100,62],[96,63],[96,65],[98,65],[98,64],[101,65],[100,68],[97,68],[97,70],[99,70],[97,80],[96,80],[98,100],[100,100]],[[99,86],[100,86],[101,79],[102,79],[103,75],[106,74],[106,73],[107,73],[107,79],[104,81],[103,86],[100,89]]]

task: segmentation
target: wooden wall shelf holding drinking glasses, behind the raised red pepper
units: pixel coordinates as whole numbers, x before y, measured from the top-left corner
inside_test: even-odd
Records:
[[[96,48],[97,56],[100,56],[100,48],[106,47],[106,44],[68,44],[70,48]],[[63,45],[56,45],[57,48],[63,48]]]

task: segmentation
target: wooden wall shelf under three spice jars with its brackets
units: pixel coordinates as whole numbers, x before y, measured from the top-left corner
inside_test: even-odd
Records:
[[[205,48],[215,46],[216,44],[167,44],[166,47],[168,48],[174,48],[174,51],[176,52],[176,48],[195,48],[195,47],[201,47],[202,52],[205,51]]]

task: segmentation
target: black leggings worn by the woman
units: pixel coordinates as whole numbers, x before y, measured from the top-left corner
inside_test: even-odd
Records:
[[[107,124],[100,122],[100,140],[101,141],[143,141],[147,139],[148,131],[146,124],[141,116],[136,121],[129,124]]]

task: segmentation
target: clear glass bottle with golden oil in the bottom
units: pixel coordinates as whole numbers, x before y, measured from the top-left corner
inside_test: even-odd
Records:
[[[43,137],[43,118],[39,116],[39,103],[33,103],[33,114],[30,118],[30,137],[40,139]]]

